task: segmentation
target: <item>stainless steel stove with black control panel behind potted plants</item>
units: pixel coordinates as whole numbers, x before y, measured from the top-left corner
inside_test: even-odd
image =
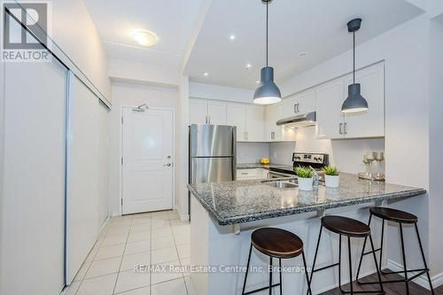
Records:
[[[295,167],[313,167],[321,172],[322,168],[329,165],[329,155],[327,153],[294,152],[292,153],[292,166],[269,167],[269,178],[281,178],[294,176]]]

